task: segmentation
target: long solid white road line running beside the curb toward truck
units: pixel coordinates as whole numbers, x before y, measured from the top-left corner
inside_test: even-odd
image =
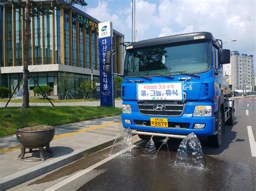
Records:
[[[140,144],[142,144],[143,142],[145,142],[145,140],[140,140],[140,141],[137,143],[137,145],[140,145]],[[64,185],[70,183],[70,182],[73,181],[73,180],[76,180],[76,179],[79,178],[80,176],[86,174],[87,172],[92,171],[93,169],[97,168],[98,166],[103,165],[105,162],[107,162],[107,161],[109,161],[109,160],[111,160],[111,159],[113,159],[113,158],[116,158],[118,155],[120,155],[120,154],[122,154],[122,153],[124,153],[124,152],[126,152],[126,151],[129,151],[129,150],[131,150],[132,148],[133,148],[133,145],[130,146],[130,147],[128,147],[128,148],[125,148],[125,149],[122,150],[122,151],[119,151],[119,152],[117,152],[117,153],[111,155],[110,157],[107,157],[107,158],[105,158],[105,159],[103,159],[103,160],[97,162],[96,164],[94,164],[94,165],[92,165],[92,166],[90,166],[90,167],[88,167],[88,168],[83,169],[83,171],[79,171],[78,173],[76,173],[76,174],[70,176],[69,178],[64,179],[63,181],[57,183],[56,185],[53,185],[53,186],[51,186],[51,187],[45,189],[45,191],[57,190],[58,188],[63,187]]]

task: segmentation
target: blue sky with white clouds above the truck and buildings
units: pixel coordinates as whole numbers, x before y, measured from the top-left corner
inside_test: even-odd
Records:
[[[223,48],[254,55],[256,70],[255,0],[136,0],[136,41],[173,34],[207,31],[223,40]],[[132,0],[86,0],[77,6],[113,29],[132,36]],[[225,43],[237,40],[232,43]]]

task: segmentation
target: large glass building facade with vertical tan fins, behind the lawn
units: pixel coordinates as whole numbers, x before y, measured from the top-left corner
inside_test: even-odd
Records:
[[[0,86],[14,89],[14,80],[22,77],[24,63],[24,45],[29,44],[29,65],[36,69],[30,70],[40,85],[53,88],[52,96],[64,96],[61,85],[63,75],[72,79],[71,95],[79,96],[77,90],[80,81],[93,78],[99,79],[98,20],[60,1],[43,2],[50,7],[50,12],[31,16],[30,38],[25,42],[25,9],[18,3],[0,5]],[[31,10],[36,12],[38,6]],[[46,12],[46,11],[45,11]],[[113,44],[122,43],[123,34],[113,31]],[[114,73],[123,73],[124,48],[117,49],[114,54]],[[45,65],[45,67],[42,67]],[[63,65],[56,69],[54,65]],[[13,67],[11,70],[6,67]],[[81,69],[72,69],[72,67]],[[52,69],[55,68],[55,69]],[[58,67],[60,68],[60,67]],[[13,71],[13,72],[11,72]],[[75,71],[75,72],[74,72]],[[35,87],[30,79],[30,91]],[[19,87],[22,88],[22,85]]]

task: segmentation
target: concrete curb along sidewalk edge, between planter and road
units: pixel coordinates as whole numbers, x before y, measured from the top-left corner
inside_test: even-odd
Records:
[[[75,160],[78,160],[86,155],[97,152],[106,148],[114,143],[116,138],[107,139],[106,142],[99,145],[93,146],[91,148],[86,148],[75,151],[73,153],[52,159],[49,162],[46,160],[45,164],[39,164],[37,166],[25,169],[23,171],[10,174],[0,179],[0,190],[6,190],[11,187],[17,186],[23,182],[29,181],[37,176],[53,171],[56,168],[62,167],[69,164]]]

